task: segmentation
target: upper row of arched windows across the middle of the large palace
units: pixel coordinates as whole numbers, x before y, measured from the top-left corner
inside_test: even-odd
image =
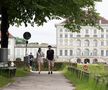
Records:
[[[75,43],[76,46],[79,46],[79,47],[81,46],[81,43],[84,43],[84,46],[88,47],[88,46],[90,46],[91,42],[89,40],[85,40],[84,42],[81,42],[81,40],[77,40],[76,42],[74,41],[74,43],[73,43],[73,41],[68,42],[68,40],[66,40],[64,42],[65,45],[68,45],[68,43],[70,45],[73,45]],[[93,42],[91,43],[91,45],[93,45],[94,47],[96,47],[96,46],[98,46],[98,43],[99,42],[97,40],[93,40]],[[60,39],[59,44],[63,45],[63,39]],[[101,41],[101,46],[104,46],[104,45],[105,45],[104,41]],[[106,45],[108,46],[108,41],[106,41]]]

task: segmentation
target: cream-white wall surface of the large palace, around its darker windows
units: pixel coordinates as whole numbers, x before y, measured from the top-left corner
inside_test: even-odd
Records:
[[[108,50],[108,45],[106,41],[108,41],[108,25],[101,25],[104,29],[104,32],[101,30],[98,30],[97,28],[90,27],[90,26],[83,26],[80,33],[72,33],[64,28],[63,24],[56,25],[56,40],[57,40],[57,56],[59,60],[68,60],[70,58],[108,58],[106,56],[106,50]],[[88,31],[88,32],[87,32]],[[67,36],[66,36],[67,34]],[[70,37],[70,34],[73,35],[73,37]],[[102,38],[101,35],[104,35],[104,38]],[[78,35],[80,37],[78,37]],[[85,40],[89,41],[89,46],[85,46]],[[81,42],[81,45],[78,46],[78,41]],[[94,46],[94,42],[97,41],[97,46]],[[101,43],[104,42],[104,45],[102,46]],[[81,55],[78,56],[76,51],[77,49],[81,50]],[[84,55],[84,50],[89,50],[89,55]],[[62,50],[63,55],[60,56],[60,50]],[[68,55],[65,56],[65,50],[68,50]],[[73,50],[73,56],[70,56],[69,51]],[[93,50],[97,50],[97,55],[93,55]],[[101,56],[101,50],[104,50],[104,57]],[[93,61],[91,59],[91,62]]]

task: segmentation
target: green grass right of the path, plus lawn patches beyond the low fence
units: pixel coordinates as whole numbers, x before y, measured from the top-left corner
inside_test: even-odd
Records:
[[[103,71],[103,66],[89,66],[89,72],[92,74],[101,74],[105,73]],[[82,68],[81,65],[78,66],[78,68]],[[98,71],[97,71],[98,70]],[[102,71],[101,71],[102,70]],[[96,81],[93,79],[93,77],[90,77],[89,80],[86,78],[79,79],[75,73],[72,73],[71,71],[68,71],[67,68],[63,70],[64,76],[70,80],[70,83],[75,85],[76,90],[108,90],[106,88],[105,83],[96,83]],[[105,73],[106,74],[106,73]],[[103,75],[105,75],[103,74]]]

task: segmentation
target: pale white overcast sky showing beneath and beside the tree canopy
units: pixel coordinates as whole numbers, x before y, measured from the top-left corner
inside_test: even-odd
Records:
[[[98,2],[96,4],[96,9],[101,16],[108,19],[108,0],[102,0],[102,2]],[[29,42],[56,44],[55,24],[58,24],[62,21],[63,20],[52,20],[40,27],[10,26],[9,32],[15,37],[23,38],[23,33],[29,31],[32,35],[31,39],[29,39]]]

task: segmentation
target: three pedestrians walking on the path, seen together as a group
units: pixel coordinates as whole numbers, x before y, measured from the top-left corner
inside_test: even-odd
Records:
[[[44,63],[44,53],[42,52],[42,49],[39,48],[37,53],[36,53],[36,62],[38,64],[38,73],[41,73],[41,69]],[[52,49],[52,46],[48,46],[48,50],[46,52],[46,60],[48,61],[48,74],[53,74],[53,67],[54,67],[54,50]],[[30,70],[32,70],[33,66],[33,61],[34,61],[34,56],[32,53],[29,55],[29,67]]]

